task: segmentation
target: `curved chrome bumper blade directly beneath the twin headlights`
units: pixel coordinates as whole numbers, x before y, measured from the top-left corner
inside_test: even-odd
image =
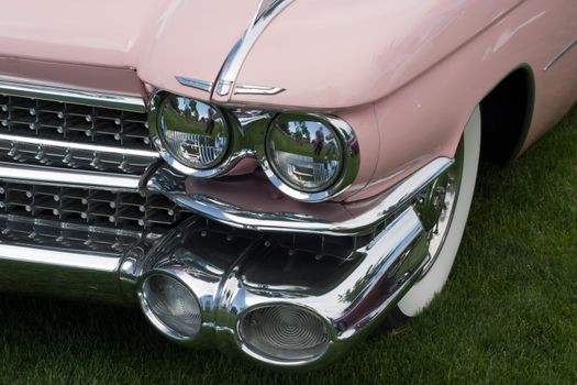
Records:
[[[386,220],[399,208],[414,199],[426,186],[436,180],[451,167],[453,161],[440,157],[429,163],[397,187],[385,195],[360,204],[317,204],[300,205],[299,210],[291,212],[240,207],[235,204],[198,193],[186,185],[186,180],[169,168],[160,168],[148,182],[147,188],[166,195],[178,205],[221,223],[255,231],[274,231],[288,233],[314,233],[334,237],[356,237],[374,231],[375,227]],[[230,185],[234,186],[234,185]],[[224,187],[224,186],[223,186]],[[236,187],[236,186],[235,186]],[[238,194],[258,194],[258,188],[242,186]],[[260,187],[260,186],[258,186]],[[192,189],[192,191],[190,191]],[[223,188],[224,189],[224,188]],[[263,200],[269,199],[265,197]],[[255,199],[253,199],[255,200]],[[263,200],[258,201],[263,206]],[[278,201],[271,201],[278,209]]]

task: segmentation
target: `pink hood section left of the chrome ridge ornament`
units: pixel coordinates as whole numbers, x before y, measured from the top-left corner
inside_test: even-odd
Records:
[[[178,88],[175,75],[208,80],[218,76],[257,4],[258,0],[11,1],[0,13],[0,57],[136,68],[156,87]]]

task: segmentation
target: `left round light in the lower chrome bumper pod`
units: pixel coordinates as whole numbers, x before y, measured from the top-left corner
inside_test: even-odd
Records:
[[[141,305],[153,324],[168,337],[189,339],[200,331],[198,300],[176,278],[164,274],[146,277],[141,288]]]

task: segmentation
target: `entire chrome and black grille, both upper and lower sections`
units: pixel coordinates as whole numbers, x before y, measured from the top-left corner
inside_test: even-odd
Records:
[[[189,216],[142,184],[143,98],[0,81],[0,243],[125,252]]]

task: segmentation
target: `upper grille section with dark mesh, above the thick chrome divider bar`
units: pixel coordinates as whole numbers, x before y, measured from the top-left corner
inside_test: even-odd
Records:
[[[146,114],[0,94],[0,161],[142,175]]]

